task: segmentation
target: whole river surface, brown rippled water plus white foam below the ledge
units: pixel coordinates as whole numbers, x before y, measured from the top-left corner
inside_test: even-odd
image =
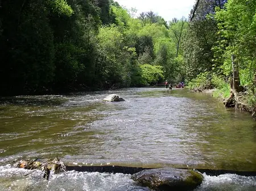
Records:
[[[106,102],[119,94],[125,101]],[[256,123],[210,94],[126,88],[0,100],[0,190],[147,190],[122,173],[51,174],[14,161],[256,171]],[[256,177],[209,176],[196,190],[256,190]]]

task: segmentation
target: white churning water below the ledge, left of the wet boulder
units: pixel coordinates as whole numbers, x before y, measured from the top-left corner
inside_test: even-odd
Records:
[[[148,190],[135,184],[130,175],[122,173],[76,172],[50,174],[49,181],[43,179],[42,171],[32,172],[13,168],[11,165],[0,167],[0,190]],[[29,175],[27,175],[30,173]],[[25,176],[27,175],[27,176]]]

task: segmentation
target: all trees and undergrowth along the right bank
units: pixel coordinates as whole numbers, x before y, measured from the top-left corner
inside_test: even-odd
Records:
[[[255,107],[255,10],[256,2],[252,0],[200,1],[185,39],[189,88],[215,87],[215,96],[228,97],[234,56],[246,95],[243,102]]]

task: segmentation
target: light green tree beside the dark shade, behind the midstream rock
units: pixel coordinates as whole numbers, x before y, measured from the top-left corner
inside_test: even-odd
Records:
[[[123,44],[123,34],[118,27],[112,25],[100,29],[98,52],[100,57],[97,60],[97,70],[101,81],[116,86],[130,85],[130,60],[134,57],[135,49]]]

